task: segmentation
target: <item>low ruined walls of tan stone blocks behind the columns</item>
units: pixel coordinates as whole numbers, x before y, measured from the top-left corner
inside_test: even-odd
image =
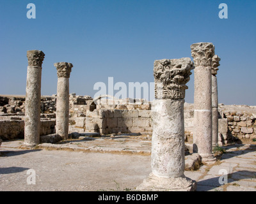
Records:
[[[152,133],[151,104],[147,101],[141,99],[120,99],[115,101],[115,104],[110,105],[108,104],[108,99],[99,100],[100,104],[93,101],[90,96],[70,94],[69,133]],[[42,120],[54,120],[56,117],[56,95],[42,96],[41,101]],[[24,131],[22,129],[24,122],[22,119],[15,120],[16,116],[22,117],[24,115],[24,103],[24,97],[0,96],[1,138],[24,136],[24,133],[22,133]],[[221,133],[220,136],[223,144],[232,142],[234,139],[251,140],[256,138],[256,106],[219,104],[218,109],[220,113],[219,133]],[[13,119],[10,120],[10,117],[13,117]],[[184,103],[186,136],[193,136],[193,117],[193,104]],[[8,136],[6,130],[3,130],[4,119],[10,120],[6,121],[6,127],[8,128],[5,128],[10,132],[10,136]],[[11,128],[12,126],[14,127],[13,129]],[[20,131],[17,130],[18,127],[20,127]],[[46,127],[49,129],[47,130]],[[41,131],[42,135],[50,132],[54,133],[51,127],[51,122],[49,125],[45,125],[45,128]]]

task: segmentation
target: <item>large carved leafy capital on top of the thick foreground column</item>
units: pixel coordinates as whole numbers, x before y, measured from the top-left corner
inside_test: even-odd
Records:
[[[190,80],[189,76],[193,68],[193,62],[189,57],[156,60],[154,62],[155,98],[185,98],[185,90],[188,89],[186,83]]]

